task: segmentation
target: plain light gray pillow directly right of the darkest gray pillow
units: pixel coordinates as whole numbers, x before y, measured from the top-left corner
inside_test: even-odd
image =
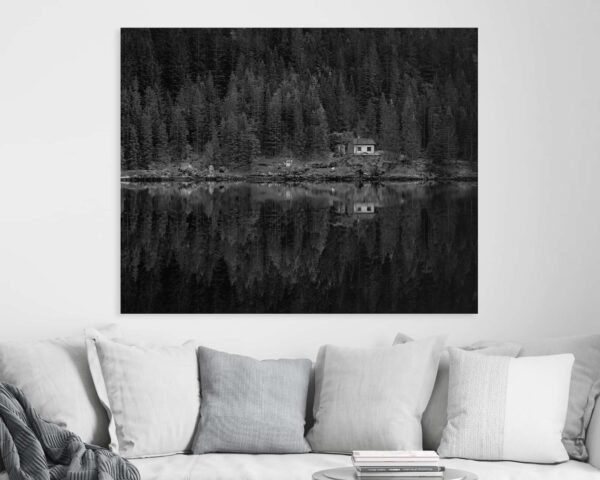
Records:
[[[427,406],[444,338],[356,349],[321,347],[315,366],[317,452],[421,450]]]

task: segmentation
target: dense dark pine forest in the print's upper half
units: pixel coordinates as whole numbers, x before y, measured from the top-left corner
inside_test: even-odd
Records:
[[[476,29],[123,29],[121,166],[477,161]]]

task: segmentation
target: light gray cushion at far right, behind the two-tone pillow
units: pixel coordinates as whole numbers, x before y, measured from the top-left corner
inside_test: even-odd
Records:
[[[542,339],[523,344],[519,356],[530,357],[572,353],[575,365],[571,376],[569,410],[563,430],[563,444],[569,456],[588,460],[586,430],[600,394],[600,335]]]

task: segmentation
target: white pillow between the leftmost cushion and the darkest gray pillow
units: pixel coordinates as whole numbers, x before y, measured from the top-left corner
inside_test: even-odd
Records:
[[[86,336],[111,450],[126,458],[190,452],[200,413],[194,343],[129,345],[93,330]]]

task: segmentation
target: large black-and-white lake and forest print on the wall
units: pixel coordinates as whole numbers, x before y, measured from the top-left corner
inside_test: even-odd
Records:
[[[477,29],[122,29],[122,313],[477,313],[477,55]]]

